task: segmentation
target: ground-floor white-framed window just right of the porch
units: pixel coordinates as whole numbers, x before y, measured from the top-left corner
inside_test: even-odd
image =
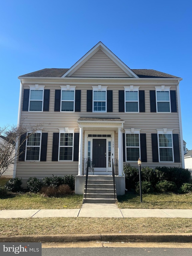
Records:
[[[126,161],[138,161],[140,158],[140,129],[125,129]]]

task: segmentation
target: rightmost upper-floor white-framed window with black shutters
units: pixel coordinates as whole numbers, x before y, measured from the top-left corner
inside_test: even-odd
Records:
[[[157,113],[171,113],[170,87],[155,86]]]

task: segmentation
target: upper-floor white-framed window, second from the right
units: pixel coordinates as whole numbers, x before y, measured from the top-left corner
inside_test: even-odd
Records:
[[[124,86],[125,112],[139,112],[139,86]]]

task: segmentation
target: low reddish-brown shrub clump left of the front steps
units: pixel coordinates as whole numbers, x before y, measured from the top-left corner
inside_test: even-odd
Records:
[[[73,191],[71,191],[69,185],[60,185],[58,187],[42,187],[40,193],[46,197],[57,197],[73,194]]]

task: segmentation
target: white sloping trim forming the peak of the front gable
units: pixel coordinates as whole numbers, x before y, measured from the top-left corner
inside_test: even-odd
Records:
[[[99,42],[91,50],[89,50],[79,61],[77,61],[62,77],[70,77],[85,62],[87,62],[98,50],[102,50],[119,68],[122,69],[129,77],[139,78],[125,63],[123,63],[112,51],[110,51],[103,43]]]

